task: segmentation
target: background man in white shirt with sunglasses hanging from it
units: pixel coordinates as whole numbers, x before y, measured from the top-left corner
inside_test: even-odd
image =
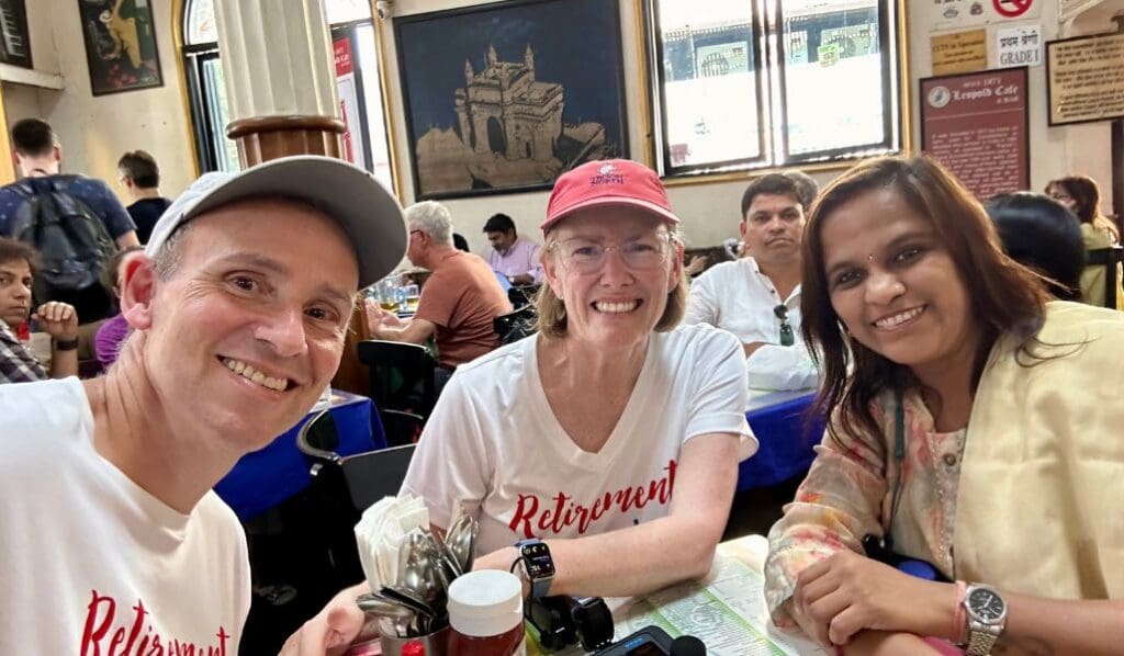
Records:
[[[800,245],[807,190],[769,174],[742,195],[743,254],[695,279],[685,324],[710,324],[742,340],[749,385],[800,390],[818,379],[800,338]]]

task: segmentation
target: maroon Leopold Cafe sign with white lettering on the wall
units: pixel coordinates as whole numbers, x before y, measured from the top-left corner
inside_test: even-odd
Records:
[[[977,198],[1031,184],[1026,71],[1007,69],[921,81],[921,147]]]

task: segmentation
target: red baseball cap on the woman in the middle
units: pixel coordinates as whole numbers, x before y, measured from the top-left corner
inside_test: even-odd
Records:
[[[596,160],[558,179],[546,204],[546,220],[540,228],[546,234],[554,224],[578,210],[605,206],[640,208],[672,226],[679,225],[655,171],[631,160]]]

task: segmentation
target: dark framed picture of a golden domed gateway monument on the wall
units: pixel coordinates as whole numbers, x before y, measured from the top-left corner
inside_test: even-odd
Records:
[[[395,18],[417,200],[550,189],[628,156],[618,0],[508,0]]]

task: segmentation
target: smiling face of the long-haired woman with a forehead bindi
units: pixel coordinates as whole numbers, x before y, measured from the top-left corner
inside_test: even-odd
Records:
[[[971,367],[979,330],[970,299],[931,221],[896,191],[856,195],[823,218],[832,307],[860,344],[924,372]]]

